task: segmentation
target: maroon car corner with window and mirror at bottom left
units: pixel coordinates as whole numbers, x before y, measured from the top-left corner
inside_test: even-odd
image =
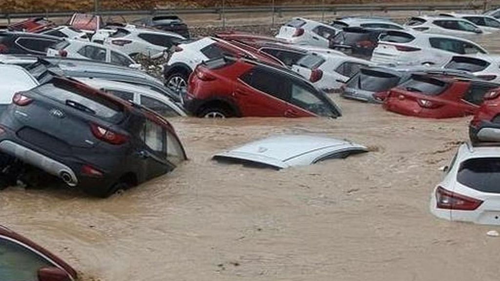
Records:
[[[76,270],[33,241],[0,225],[0,280],[73,281]]]

